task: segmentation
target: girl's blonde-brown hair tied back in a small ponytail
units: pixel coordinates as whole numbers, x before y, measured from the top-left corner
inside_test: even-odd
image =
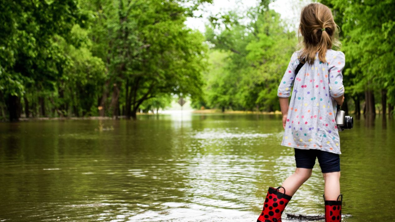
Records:
[[[299,24],[299,42],[302,36],[303,48],[299,58],[312,64],[318,52],[320,61],[326,62],[326,51],[333,45],[340,47],[338,34],[339,26],[333,20],[331,9],[319,3],[303,7]]]

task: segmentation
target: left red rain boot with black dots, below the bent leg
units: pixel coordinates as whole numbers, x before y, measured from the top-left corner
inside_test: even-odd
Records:
[[[263,203],[263,210],[261,215],[258,217],[257,222],[281,222],[281,215],[284,211],[286,205],[291,200],[292,196],[288,196],[284,193],[278,191],[281,187],[277,189],[269,187],[267,191],[265,203]]]

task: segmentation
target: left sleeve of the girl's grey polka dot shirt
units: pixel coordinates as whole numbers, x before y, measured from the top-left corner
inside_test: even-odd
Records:
[[[299,64],[299,60],[297,58],[297,52],[294,52],[291,56],[290,62],[288,63],[287,70],[282,77],[280,85],[278,86],[278,97],[290,97],[291,88],[293,86],[293,82],[295,81],[295,68],[297,66],[296,63]]]

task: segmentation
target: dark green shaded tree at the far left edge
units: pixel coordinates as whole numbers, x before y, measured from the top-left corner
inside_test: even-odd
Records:
[[[53,90],[63,72],[66,59],[57,38],[68,39],[73,25],[85,19],[74,0],[1,0],[0,6],[0,94],[9,119],[18,121],[26,91]]]

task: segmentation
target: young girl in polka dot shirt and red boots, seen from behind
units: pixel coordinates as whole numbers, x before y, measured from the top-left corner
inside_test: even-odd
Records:
[[[258,222],[281,221],[293,194],[310,177],[316,158],[325,181],[325,222],[341,221],[341,152],[335,117],[337,104],[344,101],[345,58],[343,52],[331,49],[337,43],[337,25],[327,6],[305,6],[299,33],[303,48],[293,53],[277,93],[285,129],[281,145],[295,149],[296,170],[281,187],[269,187]],[[296,73],[298,65],[303,66]]]

